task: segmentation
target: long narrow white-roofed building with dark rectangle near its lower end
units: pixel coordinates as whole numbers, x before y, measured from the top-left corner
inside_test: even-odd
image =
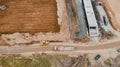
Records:
[[[86,15],[89,36],[99,36],[98,24],[91,0],[82,0],[82,3]]]

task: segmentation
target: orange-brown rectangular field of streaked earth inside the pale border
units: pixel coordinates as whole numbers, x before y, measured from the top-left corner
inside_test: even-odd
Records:
[[[55,0],[0,0],[0,33],[59,32]]]

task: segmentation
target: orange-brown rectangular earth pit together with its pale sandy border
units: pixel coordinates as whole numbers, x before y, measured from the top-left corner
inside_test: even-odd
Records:
[[[0,0],[0,45],[70,40],[65,0]]]

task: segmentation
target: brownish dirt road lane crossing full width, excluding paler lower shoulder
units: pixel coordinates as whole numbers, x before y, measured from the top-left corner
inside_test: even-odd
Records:
[[[77,46],[77,45],[72,45],[76,47],[75,51],[91,51],[91,50],[103,50],[103,49],[113,49],[113,48],[120,48],[120,41],[117,42],[112,42],[108,44],[102,44],[102,45],[95,45],[95,46]],[[54,46],[69,46],[69,45],[60,45],[60,44],[50,44],[48,46],[39,46],[39,44],[33,44],[30,46],[1,46],[0,47],[0,54],[19,54],[19,53],[37,53],[37,52],[49,52],[53,51]],[[66,51],[65,51],[66,52]],[[71,52],[71,51],[67,51]]]

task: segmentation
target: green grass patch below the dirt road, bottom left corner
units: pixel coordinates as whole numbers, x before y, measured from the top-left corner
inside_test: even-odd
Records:
[[[50,56],[4,56],[0,58],[0,65],[2,67],[50,67]]]

